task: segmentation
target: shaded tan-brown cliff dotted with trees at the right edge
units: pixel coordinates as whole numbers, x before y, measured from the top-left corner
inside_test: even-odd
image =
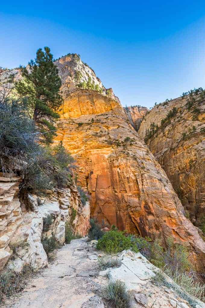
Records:
[[[164,168],[196,225],[205,209],[204,102],[199,93],[156,106],[145,116],[138,131],[144,138],[153,123],[160,127],[147,140],[148,147]],[[161,126],[161,120],[174,107],[176,114]]]

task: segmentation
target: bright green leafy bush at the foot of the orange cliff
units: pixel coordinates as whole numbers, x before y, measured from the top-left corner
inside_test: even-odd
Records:
[[[132,249],[138,252],[139,249],[135,241],[132,239],[132,235],[125,236],[124,231],[108,231],[103,237],[98,240],[97,249],[106,253],[119,253],[125,249]]]

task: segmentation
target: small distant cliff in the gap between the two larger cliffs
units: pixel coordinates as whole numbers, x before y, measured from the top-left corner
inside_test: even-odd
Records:
[[[148,108],[140,106],[124,107],[124,111],[130,120],[132,126],[138,131],[140,123],[144,116],[148,113]]]

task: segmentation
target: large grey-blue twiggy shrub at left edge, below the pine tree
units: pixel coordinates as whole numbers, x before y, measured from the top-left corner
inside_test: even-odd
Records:
[[[42,148],[37,145],[38,132],[23,101],[0,103],[0,132],[2,172],[16,170],[19,165],[26,172]]]

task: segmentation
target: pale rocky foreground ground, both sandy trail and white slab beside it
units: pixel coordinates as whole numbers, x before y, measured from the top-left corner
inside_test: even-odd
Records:
[[[92,242],[91,242],[92,243]],[[109,279],[120,279],[132,290],[132,308],[205,308],[190,305],[168,285],[153,282],[157,268],[140,253],[118,255],[121,266],[99,272],[101,252],[86,238],[73,240],[57,250],[56,261],[30,280],[26,289],[7,300],[4,308],[111,308],[97,295]],[[170,280],[171,281],[171,280]]]

